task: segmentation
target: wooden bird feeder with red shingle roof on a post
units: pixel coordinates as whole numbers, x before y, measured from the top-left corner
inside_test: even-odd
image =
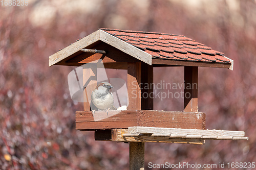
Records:
[[[198,67],[232,70],[233,61],[223,53],[180,35],[99,29],[50,56],[49,66],[94,61],[105,68],[127,70],[127,110],[93,115],[89,101],[97,86],[97,71],[83,67],[83,96],[88,102],[76,112],[76,129],[95,131],[95,140],[130,142],[130,169],[143,169],[144,142],[248,140],[241,131],[206,130],[206,114],[198,112],[198,89],[186,88],[198,83]],[[153,110],[153,98],[141,98],[141,93],[153,92],[141,87],[153,83],[153,68],[169,66],[184,66],[184,94],[189,94],[184,97],[184,111]]]

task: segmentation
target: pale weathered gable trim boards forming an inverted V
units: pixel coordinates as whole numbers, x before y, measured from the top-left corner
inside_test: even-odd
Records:
[[[58,51],[57,53],[51,55],[49,57],[49,66],[54,64],[56,65],[75,65],[75,63],[66,63],[67,60],[70,60],[78,55],[82,54],[80,50],[82,48],[93,48],[95,45],[99,44],[100,42],[105,42],[107,44],[112,45],[113,47],[117,48],[118,50],[124,52],[131,57],[134,57],[140,61],[143,61],[147,64],[151,65],[152,56],[148,53],[139,50],[135,46],[122,41],[109,33],[106,33],[102,30],[98,30],[79,41],[74,42],[73,44],[63,48],[62,50]]]

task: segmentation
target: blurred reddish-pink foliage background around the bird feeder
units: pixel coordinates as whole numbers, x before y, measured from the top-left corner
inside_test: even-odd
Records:
[[[255,0],[28,3],[0,4],[0,169],[129,169],[129,144],[75,130],[75,111],[83,109],[69,94],[75,67],[48,67],[50,55],[99,28],[185,35],[234,60],[233,71],[199,68],[199,111],[207,129],[245,131],[249,140],[146,143],[145,169],[148,162],[256,162]],[[156,68],[154,82],[182,83],[183,72]],[[154,101],[157,110],[182,106],[182,99]]]

